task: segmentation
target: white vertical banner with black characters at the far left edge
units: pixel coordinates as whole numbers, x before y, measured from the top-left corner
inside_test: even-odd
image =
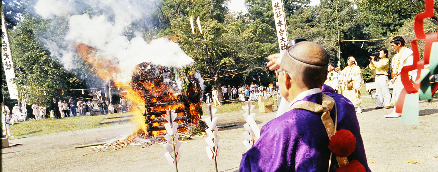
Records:
[[[6,76],[7,89],[11,99],[18,100],[17,85],[12,82],[12,78],[15,77],[14,63],[11,56],[11,45],[7,37],[6,22],[4,20],[4,14],[1,14],[1,57],[3,60],[3,69]]]

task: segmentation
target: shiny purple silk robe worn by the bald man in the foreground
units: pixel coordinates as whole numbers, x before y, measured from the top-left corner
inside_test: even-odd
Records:
[[[356,149],[348,160],[356,159],[367,172],[367,158],[360,136],[359,122],[353,104],[343,95],[323,85],[324,94],[335,99],[338,123],[337,130],[346,129],[356,137]],[[321,104],[321,93],[302,100]],[[242,156],[239,172],[327,172],[329,169],[329,136],[321,122],[322,113],[293,109],[261,127],[260,138]],[[335,121],[335,108],[330,111]],[[332,155],[330,172],[339,168]]]

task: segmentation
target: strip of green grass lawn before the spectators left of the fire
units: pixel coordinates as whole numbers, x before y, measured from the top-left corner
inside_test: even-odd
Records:
[[[113,116],[127,116],[132,115],[130,112],[115,113],[109,115],[98,116],[72,116],[63,119],[39,119],[32,121],[25,121],[22,123],[16,123],[14,126],[10,126],[12,137],[11,139],[38,136],[49,133],[60,133],[64,131],[72,130],[84,130],[90,128],[98,128],[104,126],[118,125],[120,123],[106,123],[98,124],[101,122],[115,121],[127,118],[106,119]]]

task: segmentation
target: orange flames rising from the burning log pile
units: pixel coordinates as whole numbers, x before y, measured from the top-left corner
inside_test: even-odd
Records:
[[[96,69],[94,72],[102,78],[104,81],[113,80],[115,76],[120,73],[120,69],[118,68],[118,61],[108,60],[107,58],[99,57],[96,55],[96,49],[87,46],[82,43],[75,43],[74,48],[76,49],[76,53],[82,57],[83,60],[87,61],[88,63],[92,64],[92,66]],[[90,69],[92,70],[92,69]],[[111,72],[108,72],[111,71]],[[191,73],[190,73],[191,74]],[[157,81],[159,81],[163,76],[161,74]],[[193,75],[193,74],[191,74]],[[149,101],[151,103],[155,102],[170,102],[175,101],[177,102],[179,99],[179,95],[182,93],[176,92],[173,89],[170,89],[171,87],[166,84],[153,84],[151,82],[140,82],[138,81],[145,89],[148,90],[148,95],[157,95],[154,98],[150,98]],[[138,123],[139,127],[138,129],[134,129],[133,135],[139,136],[139,135],[145,135],[147,133],[147,124],[145,123],[145,117],[143,116],[143,112],[146,112],[145,110],[145,95],[143,95],[142,91],[134,90],[132,86],[130,85],[124,85],[120,82],[115,82],[115,85],[117,85],[123,90],[126,90],[125,98],[127,98],[127,101],[132,101],[132,109],[131,112],[133,114],[133,118],[131,119],[131,122]],[[197,88],[191,88],[191,91],[196,92]],[[189,92],[191,92],[189,91]],[[190,96],[190,93],[187,93]],[[184,103],[187,103],[184,102]],[[194,125],[198,124],[198,120],[200,118],[200,109],[201,109],[201,102],[189,102],[190,104],[190,114],[191,114],[191,123]],[[184,104],[176,104],[176,105],[163,105],[158,107],[153,107],[151,109],[151,112],[159,112],[159,111],[165,111],[166,109],[184,109]],[[184,112],[177,113],[178,116],[184,116]],[[161,116],[151,116],[151,119],[157,118],[157,117],[164,117],[166,114]],[[184,121],[176,121],[178,123],[184,122]],[[167,122],[163,122],[167,123]],[[153,126],[159,126],[161,123],[153,123]],[[187,128],[180,128],[178,129],[179,132],[187,132]],[[160,131],[152,131],[152,134],[154,136],[157,136],[161,133],[165,133],[166,130],[160,130]],[[146,134],[147,136],[147,134]]]

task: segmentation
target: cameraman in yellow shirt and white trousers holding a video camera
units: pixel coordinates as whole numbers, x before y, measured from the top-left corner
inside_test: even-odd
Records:
[[[381,48],[379,49],[378,57],[371,56],[370,64],[368,65],[371,70],[376,71],[374,81],[376,83],[377,107],[374,109],[391,108],[391,94],[389,93],[388,88],[389,60],[386,58],[387,56],[388,49]],[[378,58],[380,58],[380,60]],[[383,107],[384,104],[385,107]]]

